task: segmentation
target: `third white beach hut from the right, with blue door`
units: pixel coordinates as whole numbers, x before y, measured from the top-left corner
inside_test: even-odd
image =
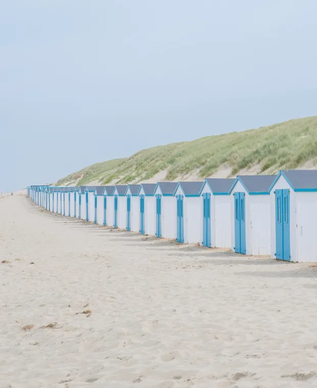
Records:
[[[203,246],[231,248],[231,197],[235,179],[206,178],[200,190]]]

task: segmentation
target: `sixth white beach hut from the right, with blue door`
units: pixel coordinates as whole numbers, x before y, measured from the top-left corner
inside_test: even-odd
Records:
[[[156,202],[154,197],[156,184],[143,183],[139,189],[140,233],[155,236]]]

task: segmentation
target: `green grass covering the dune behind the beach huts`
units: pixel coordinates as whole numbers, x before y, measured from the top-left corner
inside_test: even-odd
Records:
[[[208,136],[192,142],[145,149],[134,155],[86,167],[58,181],[58,185],[79,180],[79,185],[98,180],[128,183],[167,170],[167,180],[198,171],[201,178],[230,166],[231,176],[260,165],[261,173],[281,168],[298,168],[317,157],[317,116],[281,124]]]

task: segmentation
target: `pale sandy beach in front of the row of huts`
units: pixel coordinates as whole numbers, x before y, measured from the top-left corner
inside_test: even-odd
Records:
[[[317,386],[316,267],[145,240],[22,195],[0,199],[3,260],[1,388]]]

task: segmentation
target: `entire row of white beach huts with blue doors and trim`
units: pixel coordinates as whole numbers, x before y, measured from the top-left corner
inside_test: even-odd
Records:
[[[115,186],[28,187],[64,216],[179,243],[317,262],[317,171]]]

